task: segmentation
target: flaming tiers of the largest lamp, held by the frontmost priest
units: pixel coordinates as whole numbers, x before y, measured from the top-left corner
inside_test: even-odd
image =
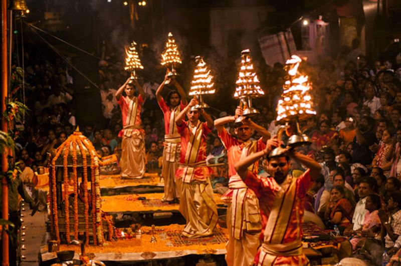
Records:
[[[298,72],[302,60],[293,55],[287,60],[285,70],[288,71],[288,79],[283,86],[283,93],[277,105],[278,122],[290,120],[304,120],[316,115],[313,109],[312,96],[309,94],[312,88],[308,76]]]

